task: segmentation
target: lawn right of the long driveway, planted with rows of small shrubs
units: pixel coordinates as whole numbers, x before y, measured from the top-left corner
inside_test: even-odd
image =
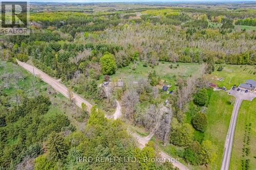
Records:
[[[229,169],[242,169],[242,159],[249,159],[249,168],[255,169],[256,167],[256,117],[255,117],[255,108],[256,108],[256,99],[252,102],[243,101],[239,110],[236,132],[234,134],[233,147],[231,153],[231,160]],[[250,130],[250,142],[249,145],[245,144],[243,141],[246,125],[251,123]],[[248,128],[247,128],[248,131]],[[248,156],[243,157],[243,144],[246,147],[250,148],[250,154]]]

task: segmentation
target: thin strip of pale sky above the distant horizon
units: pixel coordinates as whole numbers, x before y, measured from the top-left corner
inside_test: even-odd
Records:
[[[5,0],[20,1],[20,0]],[[26,1],[26,0],[23,0]],[[51,2],[51,3],[111,3],[111,2],[243,2],[241,0],[29,0],[30,2]],[[246,0],[244,2],[255,2],[256,0]]]

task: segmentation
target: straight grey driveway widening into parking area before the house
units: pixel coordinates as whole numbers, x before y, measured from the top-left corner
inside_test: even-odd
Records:
[[[235,96],[236,101],[234,102],[234,107],[233,107],[229,128],[227,132],[227,137],[224,145],[221,170],[228,170],[229,168],[234,132],[236,130],[238,112],[239,112],[241,103],[243,100],[252,101],[254,98],[256,98],[256,94],[253,92],[245,93],[245,92],[237,91],[237,89],[230,90],[229,94]]]

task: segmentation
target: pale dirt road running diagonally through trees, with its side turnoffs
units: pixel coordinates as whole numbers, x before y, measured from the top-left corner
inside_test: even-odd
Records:
[[[69,98],[68,95],[68,88],[61,84],[58,80],[53,79],[52,77],[48,76],[47,74],[45,74],[45,72],[42,72],[41,70],[37,69],[36,67],[29,65],[27,63],[21,62],[21,61],[17,61],[18,65],[22,66],[23,68],[25,68],[26,70],[28,70],[29,72],[31,72],[32,74],[39,76],[40,79],[44,82],[46,82],[47,84],[51,85],[55,90],[57,90],[58,92],[60,92],[61,94],[63,94],[64,96],[66,96],[67,98]],[[90,109],[92,107],[92,105],[82,99],[78,94],[74,93],[74,99],[75,99],[75,103],[78,107],[81,108],[81,104],[84,103],[87,105],[88,111],[90,112]],[[114,119],[117,119],[119,116],[121,115],[121,106],[119,104],[119,102],[117,101],[117,109],[114,113],[114,115],[112,116]],[[110,118],[110,117],[108,117]],[[139,147],[140,148],[144,148],[145,144],[152,138],[153,133],[151,133],[150,135],[146,136],[146,137],[140,137],[137,134],[131,133],[136,140],[139,143]],[[162,158],[164,158],[165,160],[171,160],[173,159],[172,157],[170,157],[169,155],[165,154],[164,152],[160,152],[160,156]],[[173,163],[174,166],[178,167],[180,170],[188,170],[188,168],[186,166],[184,166],[182,163],[180,162],[174,162]]]

